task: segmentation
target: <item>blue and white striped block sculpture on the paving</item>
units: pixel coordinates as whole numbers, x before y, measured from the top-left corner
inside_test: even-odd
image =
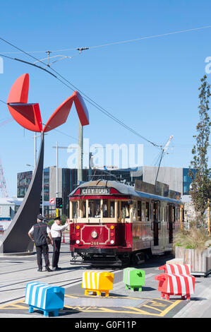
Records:
[[[29,305],[29,312],[33,309],[42,310],[44,316],[54,312],[59,316],[59,309],[64,307],[64,288],[46,283],[28,283],[25,288],[25,303]]]

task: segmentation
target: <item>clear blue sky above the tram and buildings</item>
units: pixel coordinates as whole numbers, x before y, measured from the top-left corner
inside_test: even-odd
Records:
[[[92,47],[123,40],[211,25],[210,1],[6,1],[1,2],[0,37],[38,59],[44,51]],[[205,74],[205,58],[211,57],[211,28],[164,37],[78,51],[54,52],[73,57],[56,62],[54,69],[86,95],[142,136],[157,144],[174,138],[162,166],[188,167],[193,135],[198,123],[198,87]],[[37,52],[43,51],[43,52]],[[0,42],[1,52],[16,49]],[[23,54],[6,54],[34,61]],[[39,102],[44,123],[73,91],[32,66],[4,59],[0,74],[0,99],[7,100],[11,85],[23,73],[30,74],[28,102]],[[210,83],[210,75],[207,75]],[[154,165],[157,148],[126,131],[86,102],[90,125],[84,137],[107,143],[144,145],[144,165]],[[0,103],[0,125],[10,116]],[[0,158],[10,195],[16,195],[17,172],[34,164],[33,133],[15,121],[0,126]],[[63,134],[51,131],[45,138],[44,165],[56,165],[52,146],[68,146],[78,137],[73,107]],[[37,142],[38,143],[38,142]],[[59,151],[59,166],[67,167],[69,153]],[[1,193],[0,193],[1,195]]]

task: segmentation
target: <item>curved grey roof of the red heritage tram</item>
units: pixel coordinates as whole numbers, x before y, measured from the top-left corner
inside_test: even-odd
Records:
[[[94,186],[97,186],[99,188],[100,187],[114,188],[123,195],[157,199],[159,201],[167,201],[169,203],[177,203],[177,204],[181,203],[180,200],[177,200],[174,198],[159,196],[159,195],[155,195],[155,194],[148,194],[143,191],[135,191],[134,186],[130,186],[128,184],[124,184],[124,183],[118,182],[118,181],[105,180],[105,179],[98,179],[95,181],[84,182],[83,184],[80,184],[79,186],[77,186],[77,188],[74,189],[71,192],[71,194],[69,194],[69,196],[73,196],[79,188],[94,187]]]

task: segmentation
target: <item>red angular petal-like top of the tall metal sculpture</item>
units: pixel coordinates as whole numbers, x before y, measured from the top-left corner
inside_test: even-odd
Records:
[[[43,131],[44,133],[55,129],[61,124],[64,124],[68,118],[68,114],[71,111],[73,102],[75,103],[78,117],[82,126],[89,124],[88,109],[83,102],[78,91],[75,91],[71,97],[68,97],[52,116],[47,121],[47,124],[42,129],[42,117],[40,114],[40,106],[37,103],[28,103],[28,90],[29,90],[29,75],[28,73],[20,76],[13,84],[11,91],[8,95],[7,105],[8,109],[20,126],[30,131]]]

